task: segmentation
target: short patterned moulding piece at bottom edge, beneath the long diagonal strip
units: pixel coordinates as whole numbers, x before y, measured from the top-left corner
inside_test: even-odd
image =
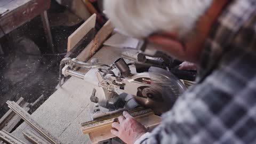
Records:
[[[36,134],[33,131],[28,131],[28,132],[22,132],[25,136],[26,139],[28,139],[30,142],[34,144],[51,144],[49,141],[45,140],[38,134]]]

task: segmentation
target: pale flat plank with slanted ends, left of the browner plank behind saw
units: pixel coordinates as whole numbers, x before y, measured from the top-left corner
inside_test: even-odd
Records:
[[[81,39],[95,27],[96,14],[93,14],[89,19],[87,19],[83,25],[81,25],[77,30],[68,37],[68,52],[73,49],[73,47],[81,41]]]

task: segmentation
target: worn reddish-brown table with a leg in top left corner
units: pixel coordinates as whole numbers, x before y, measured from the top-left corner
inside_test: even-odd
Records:
[[[53,48],[52,35],[47,17],[51,0],[1,0],[0,1],[0,38],[17,29],[24,23],[41,15],[47,43]]]

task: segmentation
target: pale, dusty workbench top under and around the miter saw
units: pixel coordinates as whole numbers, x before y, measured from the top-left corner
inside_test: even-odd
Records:
[[[121,57],[124,51],[131,50],[103,46],[93,58],[110,64]],[[89,103],[92,90],[93,86],[86,84],[82,79],[71,77],[32,116],[63,143],[91,143],[89,136],[82,133],[81,123],[91,120]],[[22,132],[31,129],[27,123],[22,123],[12,134],[30,143]]]

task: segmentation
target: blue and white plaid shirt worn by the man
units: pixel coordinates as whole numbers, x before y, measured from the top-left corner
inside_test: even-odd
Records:
[[[135,143],[256,143],[256,0],[234,0],[222,11],[198,80]]]

